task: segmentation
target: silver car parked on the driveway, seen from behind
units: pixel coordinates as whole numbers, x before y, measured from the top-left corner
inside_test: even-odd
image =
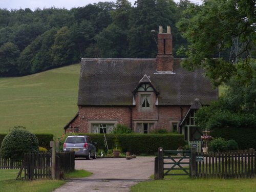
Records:
[[[96,159],[96,143],[89,136],[68,136],[63,144],[63,151],[74,151],[75,157],[86,157]]]

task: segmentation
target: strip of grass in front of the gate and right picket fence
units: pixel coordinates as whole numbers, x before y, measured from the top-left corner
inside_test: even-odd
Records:
[[[190,179],[188,176],[165,176],[164,180],[145,181],[132,187],[133,192],[252,192],[256,179]]]

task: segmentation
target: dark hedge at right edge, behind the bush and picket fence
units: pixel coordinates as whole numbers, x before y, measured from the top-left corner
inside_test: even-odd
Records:
[[[223,127],[212,129],[212,137],[222,137],[226,140],[237,141],[240,150],[256,149],[256,127]]]

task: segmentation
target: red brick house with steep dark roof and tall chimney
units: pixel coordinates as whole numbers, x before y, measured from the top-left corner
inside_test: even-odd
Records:
[[[159,27],[156,59],[82,58],[78,113],[66,133],[111,133],[117,123],[135,133],[165,128],[198,140],[202,131],[194,114],[218,99],[203,70],[182,69],[172,55],[170,27]]]

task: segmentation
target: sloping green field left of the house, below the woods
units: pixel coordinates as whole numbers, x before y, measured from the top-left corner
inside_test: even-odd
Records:
[[[57,138],[77,113],[80,65],[24,77],[0,78],[0,133],[25,126]]]

